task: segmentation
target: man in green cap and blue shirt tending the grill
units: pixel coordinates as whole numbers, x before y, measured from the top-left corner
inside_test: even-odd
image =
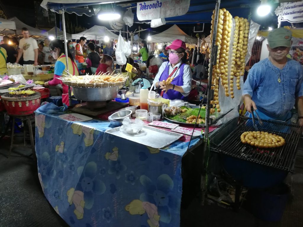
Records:
[[[246,116],[251,117],[252,107],[262,119],[288,121],[295,106],[303,126],[303,70],[297,61],[286,57],[291,31],[276,28],[267,38],[269,56],[254,64],[242,90]]]

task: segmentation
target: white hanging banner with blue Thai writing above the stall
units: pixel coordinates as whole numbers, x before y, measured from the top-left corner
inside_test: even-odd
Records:
[[[157,0],[137,3],[139,21],[184,15],[190,0]]]

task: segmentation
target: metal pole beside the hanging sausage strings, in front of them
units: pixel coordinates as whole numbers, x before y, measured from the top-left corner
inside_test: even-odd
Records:
[[[211,90],[211,82],[212,82],[212,68],[217,63],[217,53],[218,46],[215,46],[216,36],[217,36],[217,27],[218,27],[218,17],[219,17],[219,8],[220,8],[221,0],[216,0],[216,8],[215,8],[215,21],[214,21],[214,32],[212,35],[212,48],[211,48],[211,61],[210,61],[210,72],[208,77],[208,91],[207,91],[207,106],[205,113],[205,132],[204,132],[204,143],[202,149],[202,173],[201,173],[201,204],[204,205],[205,194],[207,191],[207,167],[206,167],[206,154],[208,150],[208,130],[210,124],[210,100],[214,97],[214,90]]]

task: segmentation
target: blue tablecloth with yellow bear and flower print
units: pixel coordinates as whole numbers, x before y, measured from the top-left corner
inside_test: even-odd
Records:
[[[105,133],[109,122],[75,123],[58,115],[42,107],[36,111],[36,155],[45,197],[65,222],[180,225],[181,159],[188,143],[154,149]]]

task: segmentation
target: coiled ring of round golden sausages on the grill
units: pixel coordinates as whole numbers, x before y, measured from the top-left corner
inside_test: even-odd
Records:
[[[276,134],[263,131],[249,131],[242,133],[241,142],[260,148],[275,148],[284,146],[285,140],[283,137]]]

